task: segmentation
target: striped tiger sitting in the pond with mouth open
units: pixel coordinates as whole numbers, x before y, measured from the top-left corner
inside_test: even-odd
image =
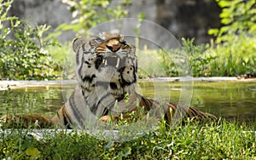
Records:
[[[143,110],[161,111],[166,123],[183,114],[184,117],[195,117],[205,120],[217,120],[218,117],[199,111],[194,107],[177,106],[172,102],[162,107],[159,102],[137,94],[137,55],[136,48],[117,33],[103,32],[88,40],[76,38],[73,41],[75,52],[75,72],[77,87],[64,106],[51,119],[32,115],[5,115],[2,117],[5,126],[22,122],[22,128],[37,123],[38,128],[50,128],[58,125],[66,129],[83,129],[90,113],[103,122],[116,119],[121,114]],[[129,100],[125,95],[129,95]],[[136,103],[135,103],[136,102]],[[115,106],[118,106],[118,111]],[[177,114],[178,112],[178,114]],[[111,116],[110,116],[111,115]],[[161,118],[159,117],[161,120]]]

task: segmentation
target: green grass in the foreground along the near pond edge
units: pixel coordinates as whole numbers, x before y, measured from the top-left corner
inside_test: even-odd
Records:
[[[0,158],[25,159],[254,159],[255,130],[245,124],[187,123],[160,127],[136,140],[97,140],[89,134],[1,134]]]

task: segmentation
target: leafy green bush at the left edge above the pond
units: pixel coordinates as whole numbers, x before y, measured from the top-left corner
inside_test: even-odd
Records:
[[[58,66],[45,48],[56,43],[45,42],[43,38],[49,26],[32,27],[24,20],[9,16],[12,3],[11,0],[0,3],[0,78],[55,78]]]

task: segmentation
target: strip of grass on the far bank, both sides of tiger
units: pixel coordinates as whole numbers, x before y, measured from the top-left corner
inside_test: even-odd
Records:
[[[194,39],[183,39],[183,50],[137,49],[138,77],[255,77],[255,40],[230,46],[195,45]],[[247,42],[247,43],[244,43]],[[49,48],[53,60],[62,66],[63,78],[74,77],[74,56],[71,45]],[[64,71],[61,73],[61,71]],[[60,77],[60,76],[57,76]]]

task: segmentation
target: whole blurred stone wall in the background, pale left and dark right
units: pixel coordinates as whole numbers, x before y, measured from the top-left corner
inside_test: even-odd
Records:
[[[111,6],[121,1],[113,1]],[[207,43],[210,37],[207,30],[219,27],[218,8],[215,0],[133,0],[129,10],[130,17],[145,13],[146,20],[152,20],[171,31],[180,41],[181,37],[195,37],[196,43]],[[61,23],[70,23],[72,15],[61,0],[16,0],[11,14],[25,17],[38,24],[48,24],[52,30]],[[100,16],[100,15],[99,15]],[[150,34],[154,34],[150,32]],[[157,35],[159,36],[159,35]],[[70,41],[72,31],[62,34],[61,41]]]

